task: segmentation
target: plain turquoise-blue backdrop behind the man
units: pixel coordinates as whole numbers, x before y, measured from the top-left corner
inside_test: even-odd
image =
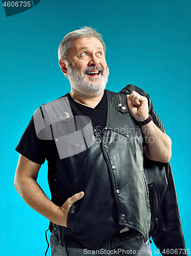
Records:
[[[2,256],[44,255],[49,221],[14,188],[14,151],[34,111],[69,92],[58,65],[59,44],[70,31],[96,28],[106,43],[107,89],[135,84],[149,93],[172,139],[171,165],[186,247],[190,248],[190,6],[189,0],[50,1],[1,15]],[[38,182],[50,197],[46,163]],[[156,247],[152,243],[155,254]],[[50,255],[50,250],[48,255]]]

